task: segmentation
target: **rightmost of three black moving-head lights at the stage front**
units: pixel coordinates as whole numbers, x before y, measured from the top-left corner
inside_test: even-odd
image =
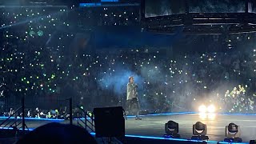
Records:
[[[242,142],[240,126],[230,123],[225,129],[226,138],[225,142]]]

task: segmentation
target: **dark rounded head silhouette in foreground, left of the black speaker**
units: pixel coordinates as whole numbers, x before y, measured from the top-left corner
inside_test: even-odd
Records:
[[[27,143],[90,143],[96,144],[96,140],[82,127],[49,123],[26,134],[18,140],[17,144]]]

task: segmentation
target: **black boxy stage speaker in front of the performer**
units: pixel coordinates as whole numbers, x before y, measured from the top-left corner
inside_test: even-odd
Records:
[[[94,108],[95,133],[97,138],[125,136],[125,118],[122,106]]]

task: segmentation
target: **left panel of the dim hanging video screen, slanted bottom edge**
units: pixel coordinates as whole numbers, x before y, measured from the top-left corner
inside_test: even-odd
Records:
[[[145,17],[185,14],[185,0],[145,0]]]

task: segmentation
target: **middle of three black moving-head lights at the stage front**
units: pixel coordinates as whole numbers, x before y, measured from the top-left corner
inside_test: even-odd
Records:
[[[202,122],[196,122],[193,125],[193,134],[194,136],[191,137],[192,140],[208,140],[209,137],[206,136],[207,134],[207,126],[206,124],[203,124]]]

